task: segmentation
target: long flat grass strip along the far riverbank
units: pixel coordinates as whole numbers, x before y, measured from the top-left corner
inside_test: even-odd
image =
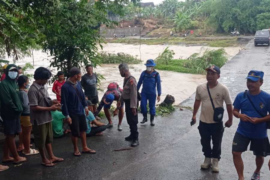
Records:
[[[218,38],[151,38],[151,39],[137,39],[137,38],[121,38],[108,39],[108,43],[122,43],[122,44],[146,44],[146,45],[207,45],[211,47],[232,47],[238,46],[237,38],[218,39]]]

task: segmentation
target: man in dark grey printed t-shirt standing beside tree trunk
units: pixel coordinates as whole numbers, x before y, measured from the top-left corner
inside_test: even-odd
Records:
[[[84,89],[84,94],[88,97],[88,100],[94,104],[92,107],[95,112],[99,102],[97,90],[98,76],[93,73],[93,66],[91,64],[87,65],[85,69],[87,73],[82,76],[81,85]]]

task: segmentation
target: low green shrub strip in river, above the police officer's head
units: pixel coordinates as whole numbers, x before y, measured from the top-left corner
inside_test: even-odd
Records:
[[[100,58],[101,64],[121,64],[126,62],[128,64],[140,64],[143,61],[137,58],[137,55],[133,57],[130,54],[125,54],[124,52],[119,52],[117,54],[101,52],[98,53],[98,58]]]

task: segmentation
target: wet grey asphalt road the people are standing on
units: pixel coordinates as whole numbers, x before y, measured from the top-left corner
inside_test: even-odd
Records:
[[[238,92],[246,89],[245,77],[251,69],[265,72],[262,89],[270,92],[269,50],[268,46],[254,47],[251,41],[245,49],[222,67],[220,82],[229,87],[233,99]],[[193,107],[193,102],[194,95],[182,105]],[[204,157],[201,152],[198,125],[190,127],[191,116],[192,111],[180,111],[178,108],[170,116],[157,117],[155,127],[150,126],[149,122],[145,125],[139,123],[140,145],[134,149],[119,152],[113,150],[130,146],[130,142],[124,140],[124,137],[129,135],[129,128],[124,117],[123,131],[117,131],[117,119],[114,119],[115,126],[104,131],[103,136],[87,138],[89,147],[95,149],[97,154],[82,154],[81,157],[74,157],[70,135],[67,135],[53,142],[55,156],[65,158],[64,162],[47,168],[41,166],[39,155],[29,156],[28,161],[20,166],[14,167],[12,163],[8,163],[7,165],[12,168],[0,172],[0,179],[236,180],[231,144],[239,120],[234,118],[233,126],[225,129],[220,173],[212,173],[211,170],[200,169]],[[140,114],[139,121],[141,119]],[[224,120],[226,119],[227,113],[224,116]],[[2,144],[3,140],[0,140],[0,146]],[[255,169],[255,156],[248,151],[243,153],[242,157],[245,178],[250,179]],[[0,159],[2,159],[2,149]],[[265,164],[261,170],[262,180],[270,179],[268,161],[269,157],[265,158]]]

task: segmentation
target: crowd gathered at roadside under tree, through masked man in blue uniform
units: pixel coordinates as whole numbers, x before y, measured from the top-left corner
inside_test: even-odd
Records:
[[[53,83],[52,92],[56,99],[49,98],[47,83],[52,76],[49,69],[38,67],[34,73],[35,81],[30,86],[29,78],[22,74],[22,68],[15,64],[4,65],[4,74],[0,83],[1,119],[4,125],[4,151],[3,163],[14,164],[25,162],[26,157],[19,156],[22,152],[25,156],[41,155],[41,164],[52,167],[56,162],[64,161],[63,158],[54,156],[52,151],[53,138],[71,133],[74,156],[82,153],[95,154],[86,143],[86,137],[102,135],[107,128],[113,127],[110,107],[113,101],[117,102],[117,108],[113,116],[119,114],[118,130],[122,131],[122,119],[124,116],[124,104],[130,135],[125,140],[131,140],[131,146],[139,145],[139,132],[137,129],[137,109],[139,101],[144,112],[142,123],[147,122],[146,104],[149,101],[151,112],[151,125],[154,124],[156,87],[158,98],[161,95],[161,80],[159,74],[154,70],[154,62],[148,60],[146,71],[142,73],[139,84],[143,85],[142,97],[137,89],[137,82],[129,72],[128,64],[119,65],[119,72],[124,77],[123,89],[116,82],[108,85],[107,91],[99,102],[97,82],[98,76],[93,73],[93,66],[86,65],[83,76],[78,67],[69,71],[69,78],[64,80],[64,73],[57,73],[57,80]],[[149,89],[150,88],[150,89]],[[152,98],[152,96],[154,98]],[[97,104],[98,108],[97,108]],[[108,124],[101,123],[98,117],[101,109],[108,119]],[[33,131],[35,147],[31,149],[30,136]],[[19,146],[16,148],[15,136],[19,135]],[[78,138],[82,142],[82,150],[77,145]],[[46,157],[46,151],[48,157]],[[10,153],[12,157],[10,156]],[[0,171],[8,167],[0,165]]]

